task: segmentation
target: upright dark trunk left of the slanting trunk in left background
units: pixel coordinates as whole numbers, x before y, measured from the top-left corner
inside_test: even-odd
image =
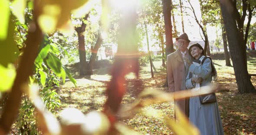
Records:
[[[85,75],[86,73],[86,50],[85,50],[85,20],[87,20],[89,17],[89,13],[85,15],[85,17],[82,19],[81,26],[75,27],[75,31],[78,35],[78,44],[79,44],[79,64],[80,64],[80,76]]]

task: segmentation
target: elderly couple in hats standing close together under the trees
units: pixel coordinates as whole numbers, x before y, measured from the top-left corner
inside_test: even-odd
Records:
[[[176,38],[176,41],[177,51],[167,56],[169,91],[175,92],[192,88],[198,90],[200,87],[211,83],[212,61],[203,55],[202,46],[194,44],[187,49],[190,40],[186,33]],[[224,134],[216,100],[210,103],[201,103],[200,96],[194,96],[175,100],[174,104],[199,129],[201,135]],[[174,112],[176,118],[175,114]]]

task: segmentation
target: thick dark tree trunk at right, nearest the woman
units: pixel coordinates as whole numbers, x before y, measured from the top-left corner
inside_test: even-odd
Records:
[[[229,0],[220,0],[220,7],[226,27],[228,44],[230,45],[230,54],[232,55],[238,91],[239,93],[256,92],[248,75],[246,48],[243,35],[241,36],[236,26],[235,9]]]

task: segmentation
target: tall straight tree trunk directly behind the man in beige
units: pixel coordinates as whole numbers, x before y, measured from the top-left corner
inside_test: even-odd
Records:
[[[166,44],[166,57],[167,55],[174,52],[173,41],[172,41],[172,26],[171,26],[171,1],[170,0],[162,0],[163,3],[163,14],[164,14],[164,27],[165,27],[165,44]],[[168,74],[168,73],[167,73]],[[166,74],[166,82],[164,84],[165,87],[168,87],[167,84],[167,74]]]

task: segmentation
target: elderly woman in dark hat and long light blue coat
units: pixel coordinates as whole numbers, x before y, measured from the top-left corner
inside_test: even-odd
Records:
[[[189,67],[186,87],[199,90],[212,81],[212,61],[203,56],[203,48],[199,44],[191,45],[188,51],[193,57],[193,63]],[[213,94],[214,101],[208,100],[206,103],[202,103],[200,96],[190,97],[189,120],[200,130],[201,135],[224,135],[218,104],[215,93]]]

